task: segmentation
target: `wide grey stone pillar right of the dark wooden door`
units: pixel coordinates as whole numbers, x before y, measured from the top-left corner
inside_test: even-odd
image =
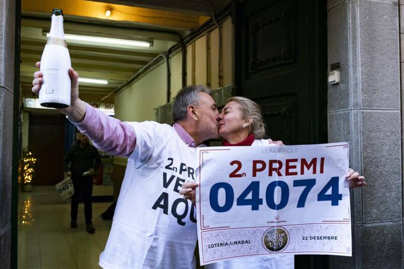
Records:
[[[397,0],[328,0],[329,142],[350,142],[368,186],[351,192],[353,257],[330,268],[402,268],[402,173]]]

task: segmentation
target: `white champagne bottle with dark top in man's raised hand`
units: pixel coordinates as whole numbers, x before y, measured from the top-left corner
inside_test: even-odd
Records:
[[[64,108],[70,105],[71,67],[69,50],[63,30],[63,11],[52,12],[51,32],[41,58],[42,86],[39,103],[46,107]]]

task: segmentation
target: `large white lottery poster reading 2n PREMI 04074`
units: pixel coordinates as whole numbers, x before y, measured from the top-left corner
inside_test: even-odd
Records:
[[[351,256],[349,144],[197,149],[201,264],[257,255]]]

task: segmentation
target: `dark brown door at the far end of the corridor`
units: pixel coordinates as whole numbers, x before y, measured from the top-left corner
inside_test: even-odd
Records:
[[[63,180],[65,116],[30,115],[29,150],[36,156],[34,185],[55,185]]]

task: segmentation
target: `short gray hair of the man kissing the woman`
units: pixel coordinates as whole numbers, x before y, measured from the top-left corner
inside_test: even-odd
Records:
[[[211,90],[202,85],[193,85],[180,89],[173,103],[173,120],[184,121],[188,105],[199,105],[199,92],[211,94]]]

